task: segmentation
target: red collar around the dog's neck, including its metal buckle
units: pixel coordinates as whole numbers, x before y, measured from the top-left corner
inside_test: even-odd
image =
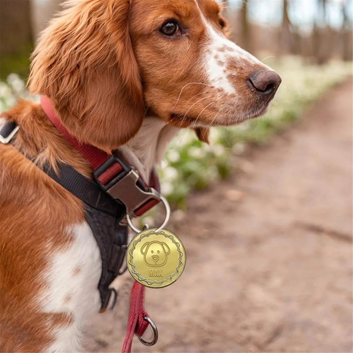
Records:
[[[95,146],[79,142],[72,136],[61,124],[50,98],[41,96],[41,106],[56,129],[90,164],[92,177],[97,184],[114,198],[120,199],[130,216],[141,216],[160,201],[159,180],[154,171],[150,177],[151,185],[148,186],[118,151],[108,154]]]

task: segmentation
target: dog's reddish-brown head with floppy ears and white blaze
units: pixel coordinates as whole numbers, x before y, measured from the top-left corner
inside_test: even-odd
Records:
[[[146,109],[168,124],[232,125],[266,112],[280,77],[224,35],[214,0],[71,0],[43,32],[30,90],[86,143],[111,150]]]

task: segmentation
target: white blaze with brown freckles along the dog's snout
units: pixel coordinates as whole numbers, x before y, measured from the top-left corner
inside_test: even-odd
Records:
[[[198,5],[198,0],[195,0],[195,2],[209,38],[209,43],[204,49],[204,57],[202,59],[207,77],[209,79],[209,84],[214,86],[216,89],[222,90],[223,93],[235,94],[237,93],[236,89],[232,82],[229,81],[228,77],[230,75],[236,75],[237,72],[229,71],[229,69],[227,69],[229,59],[239,61],[239,65],[244,65],[246,63],[249,65],[261,64],[264,66],[264,69],[266,69],[267,66],[262,64],[255,58],[255,56],[228,40],[223,34],[217,32],[202,13],[202,10]]]

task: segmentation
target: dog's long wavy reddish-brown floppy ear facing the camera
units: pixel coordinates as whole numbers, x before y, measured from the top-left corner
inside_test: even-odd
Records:
[[[107,151],[125,144],[145,114],[130,0],[71,0],[43,31],[29,89],[51,98],[67,130]]]

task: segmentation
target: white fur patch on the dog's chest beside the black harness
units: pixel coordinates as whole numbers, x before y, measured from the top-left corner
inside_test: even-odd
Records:
[[[40,304],[46,313],[68,313],[72,324],[56,329],[55,341],[45,352],[78,352],[82,329],[89,317],[100,310],[98,282],[101,276],[101,255],[89,225],[74,225],[68,232],[73,241],[49,260],[44,274],[49,284]]]

